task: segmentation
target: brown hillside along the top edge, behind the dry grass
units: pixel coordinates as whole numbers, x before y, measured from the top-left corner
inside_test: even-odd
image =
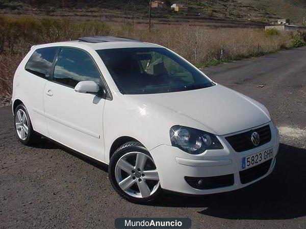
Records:
[[[99,17],[107,20],[126,18],[139,22],[147,20],[148,0],[0,0],[2,13],[37,14],[50,16]],[[185,7],[171,12],[169,5],[181,3]],[[152,9],[152,19],[159,23],[212,23],[262,25],[277,18],[289,18],[303,23],[306,0],[165,0],[162,8]],[[236,22],[235,22],[236,21]]]

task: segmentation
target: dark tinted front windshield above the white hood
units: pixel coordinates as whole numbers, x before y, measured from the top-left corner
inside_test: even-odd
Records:
[[[214,85],[165,48],[97,50],[122,94],[181,92]]]

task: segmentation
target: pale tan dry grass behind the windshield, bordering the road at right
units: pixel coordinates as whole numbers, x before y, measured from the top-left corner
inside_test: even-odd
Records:
[[[135,30],[130,36],[166,46],[195,65],[205,65],[219,59],[222,46],[225,60],[238,60],[291,46],[288,33],[267,36],[264,31],[253,28],[212,29],[169,25],[151,33]]]

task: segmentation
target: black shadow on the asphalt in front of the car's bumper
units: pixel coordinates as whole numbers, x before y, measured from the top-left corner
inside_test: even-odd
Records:
[[[292,219],[306,215],[306,150],[281,144],[275,170],[246,188],[186,197],[166,194],[155,206],[203,208],[199,214],[225,219]]]

